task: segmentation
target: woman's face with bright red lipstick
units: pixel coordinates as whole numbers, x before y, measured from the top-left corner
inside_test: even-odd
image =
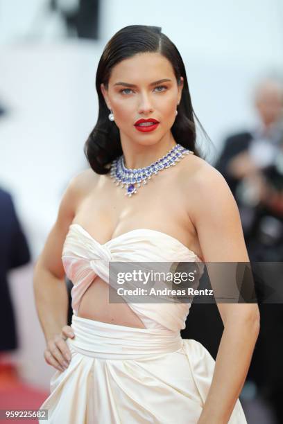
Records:
[[[173,67],[163,55],[139,53],[117,64],[112,69],[108,89],[101,84],[101,91],[121,136],[147,144],[170,131],[182,87],[183,78],[178,86]],[[136,124],[140,119],[151,118],[158,121],[153,130]]]

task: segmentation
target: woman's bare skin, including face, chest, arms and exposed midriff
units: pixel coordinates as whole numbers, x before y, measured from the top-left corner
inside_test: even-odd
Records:
[[[170,81],[151,85],[161,79]],[[115,85],[117,82],[135,87]],[[147,166],[175,145],[170,129],[182,81],[177,84],[170,62],[162,55],[143,53],[123,60],[112,69],[108,87],[101,85],[101,91],[119,127],[128,168]],[[153,132],[141,133],[133,126],[139,118],[155,118],[160,125]],[[61,260],[72,222],[82,225],[101,244],[132,229],[148,228],[177,238],[205,262],[249,261],[239,211],[227,183],[194,154],[153,177],[131,198],[109,175],[85,170],[67,187],[58,218],[35,265],[35,299],[47,344],[44,357],[61,371],[63,361],[69,363],[67,355],[70,357],[65,338],[74,337],[72,328],[65,325],[67,293]],[[108,284],[96,277],[83,296],[78,316],[144,328],[126,303],[108,303],[108,290]],[[218,309],[225,328],[198,424],[228,422],[259,333],[257,305],[218,303]]]

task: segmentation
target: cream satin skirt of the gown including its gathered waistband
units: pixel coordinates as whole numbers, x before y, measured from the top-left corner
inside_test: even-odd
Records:
[[[202,344],[166,328],[77,316],[71,326],[71,362],[55,372],[40,408],[48,409],[48,423],[198,423],[214,373]],[[228,424],[247,424],[239,399]]]

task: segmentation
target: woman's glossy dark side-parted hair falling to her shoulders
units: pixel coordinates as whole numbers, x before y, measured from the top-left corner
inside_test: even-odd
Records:
[[[123,154],[119,128],[114,121],[108,119],[110,111],[101,93],[101,83],[107,89],[112,68],[137,53],[162,54],[171,63],[178,85],[181,82],[180,77],[184,78],[178,115],[171,127],[171,132],[177,143],[201,157],[200,151],[196,147],[195,119],[198,121],[198,118],[191,105],[185,65],[175,44],[161,32],[161,29],[157,26],[146,25],[126,26],[114,34],[104,48],[96,71],[98,119],[84,147],[89,165],[98,174],[107,174],[112,160]],[[203,129],[199,121],[198,124]]]

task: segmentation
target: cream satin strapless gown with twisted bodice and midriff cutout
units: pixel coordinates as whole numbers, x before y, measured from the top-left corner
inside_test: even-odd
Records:
[[[40,407],[49,410],[47,422],[196,424],[215,362],[202,344],[180,336],[190,303],[128,303],[145,328],[85,319],[77,312],[96,276],[110,283],[110,261],[192,262],[201,275],[201,259],[160,231],[136,229],[101,245],[71,224],[62,261],[74,283],[75,337],[67,339],[71,362],[55,372],[51,394]],[[246,424],[239,399],[228,424]]]

